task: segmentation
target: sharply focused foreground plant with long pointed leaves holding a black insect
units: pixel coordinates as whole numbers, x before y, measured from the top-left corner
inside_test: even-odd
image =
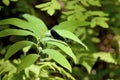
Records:
[[[26,70],[26,67],[29,67],[32,65],[35,61],[36,63],[40,64],[43,63],[42,66],[48,66],[49,68],[53,69],[53,71],[56,71],[56,68],[58,69],[58,72],[65,75],[70,76],[64,69],[57,67],[57,65],[52,63],[51,59],[56,61],[58,64],[60,64],[62,67],[66,68],[69,72],[72,72],[72,67],[68,60],[65,58],[64,54],[67,54],[70,56],[73,61],[76,63],[76,57],[74,53],[72,52],[69,45],[63,41],[56,40],[51,37],[51,34],[49,33],[46,25],[38,18],[24,14],[23,17],[27,20],[22,20],[18,18],[8,18],[0,21],[0,25],[13,25],[20,29],[4,29],[0,31],[0,37],[6,37],[10,35],[16,35],[16,36],[32,36],[31,38],[34,38],[34,40],[23,40],[18,41],[11,45],[6,54],[3,58],[4,60],[8,60],[11,56],[13,56],[16,52],[19,50],[23,50],[24,54],[20,58],[20,63],[17,63],[17,73]],[[84,47],[86,47],[73,33],[66,31],[66,30],[56,30],[61,36],[71,39],[73,41],[76,41],[80,44],[82,44]],[[36,48],[36,53],[28,53],[28,51],[32,48]],[[58,50],[55,50],[54,48],[58,47],[62,50],[62,53]],[[86,47],[87,48],[87,47]],[[19,54],[19,53],[18,53]],[[48,55],[48,56],[47,56]],[[40,59],[39,59],[40,58]],[[50,61],[49,64],[44,64],[44,61]],[[37,65],[36,65],[37,66]],[[3,66],[1,66],[3,67]],[[38,66],[37,66],[38,67]],[[55,68],[54,68],[55,67]],[[5,68],[6,69],[6,68]],[[40,67],[39,67],[40,69]],[[6,70],[5,70],[6,71]],[[5,73],[5,71],[1,72],[1,75]],[[9,70],[8,70],[9,71]],[[38,77],[38,76],[37,76]],[[9,77],[8,77],[9,78]],[[65,78],[65,77],[64,77]],[[70,77],[72,78],[72,77]],[[72,78],[74,79],[74,78]]]

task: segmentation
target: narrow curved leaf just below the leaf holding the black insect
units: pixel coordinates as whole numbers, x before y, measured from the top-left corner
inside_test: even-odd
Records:
[[[58,43],[58,42],[51,42],[51,41],[48,41],[47,43],[53,44],[53,45],[59,47],[67,55],[69,55],[74,60],[74,62],[76,63],[76,56],[74,55],[74,53],[72,52],[71,48],[68,45],[66,46],[64,44],[61,44],[61,43]]]

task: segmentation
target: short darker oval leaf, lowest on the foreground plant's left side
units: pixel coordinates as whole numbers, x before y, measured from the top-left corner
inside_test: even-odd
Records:
[[[38,54],[29,54],[22,58],[21,63],[18,65],[17,72],[20,72],[24,70],[26,67],[32,65],[38,59],[38,57],[39,57]]]

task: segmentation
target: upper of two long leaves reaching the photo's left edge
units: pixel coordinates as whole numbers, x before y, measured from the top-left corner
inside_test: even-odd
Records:
[[[16,27],[27,29],[36,33],[34,27],[31,26],[27,21],[18,18],[8,18],[8,19],[0,20],[0,25],[14,25]]]

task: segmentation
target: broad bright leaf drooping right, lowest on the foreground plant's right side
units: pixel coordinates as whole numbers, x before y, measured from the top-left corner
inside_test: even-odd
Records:
[[[70,63],[67,61],[67,59],[57,50],[53,49],[45,49],[43,50],[43,53],[46,53],[49,55],[50,58],[55,60],[58,64],[63,66],[64,68],[68,69],[70,72],[72,72],[72,68]]]

